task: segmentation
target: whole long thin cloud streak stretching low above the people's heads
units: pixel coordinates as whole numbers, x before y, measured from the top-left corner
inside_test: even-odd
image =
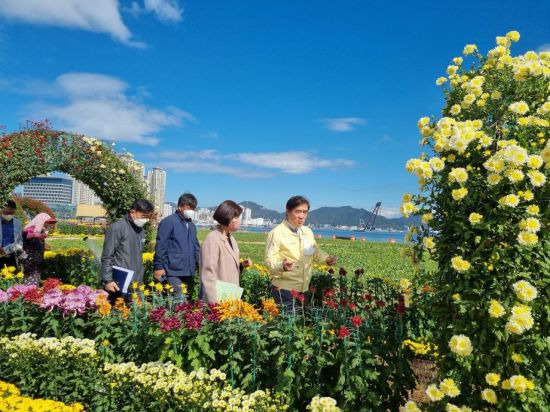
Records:
[[[308,152],[233,153],[217,150],[163,151],[147,153],[155,165],[175,172],[221,173],[236,177],[272,177],[270,170],[305,174],[316,169],[352,167],[347,159],[320,159]],[[251,167],[252,166],[252,167]]]

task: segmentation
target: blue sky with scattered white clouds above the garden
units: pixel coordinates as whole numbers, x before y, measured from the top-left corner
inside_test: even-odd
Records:
[[[397,216],[416,121],[465,44],[550,49],[540,1],[0,0],[0,124],[115,139],[167,170],[167,201]]]

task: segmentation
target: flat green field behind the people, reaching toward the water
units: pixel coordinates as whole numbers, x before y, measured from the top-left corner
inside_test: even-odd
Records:
[[[199,230],[199,240],[202,241],[208,234],[208,230]],[[263,264],[264,247],[267,234],[265,233],[237,233],[235,238],[239,243],[242,258],[250,258],[254,263]],[[103,245],[103,238],[91,238],[99,249]],[[412,266],[409,259],[404,256],[405,246],[399,244],[361,242],[350,240],[317,239],[321,249],[336,256],[338,267],[344,267],[348,271],[363,268],[369,276],[400,279],[409,277]],[[51,250],[64,250],[69,248],[88,248],[81,237],[50,238],[48,244]],[[433,262],[426,264],[433,266]]]

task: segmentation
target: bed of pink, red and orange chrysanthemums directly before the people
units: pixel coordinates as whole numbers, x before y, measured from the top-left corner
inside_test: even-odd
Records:
[[[218,369],[231,387],[283,393],[297,409],[317,394],[345,408],[391,409],[414,387],[412,354],[402,345],[406,313],[395,289],[360,276],[323,275],[317,284],[333,287],[312,289],[303,315],[281,314],[269,299],[258,307],[176,305],[157,285],[137,287],[130,306],[55,279],[41,288],[12,285],[1,295],[0,336],[72,335],[93,339],[109,362],[169,361],[187,373]],[[295,306],[302,301],[297,293]]]

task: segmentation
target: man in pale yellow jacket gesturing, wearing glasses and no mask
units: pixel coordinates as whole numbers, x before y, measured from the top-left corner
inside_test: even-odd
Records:
[[[313,232],[304,226],[308,212],[305,197],[291,197],[286,203],[286,219],[267,236],[265,264],[271,271],[273,297],[287,310],[301,307],[301,303],[293,305],[291,292],[309,290],[313,262],[336,264],[336,258],[320,250]]]

